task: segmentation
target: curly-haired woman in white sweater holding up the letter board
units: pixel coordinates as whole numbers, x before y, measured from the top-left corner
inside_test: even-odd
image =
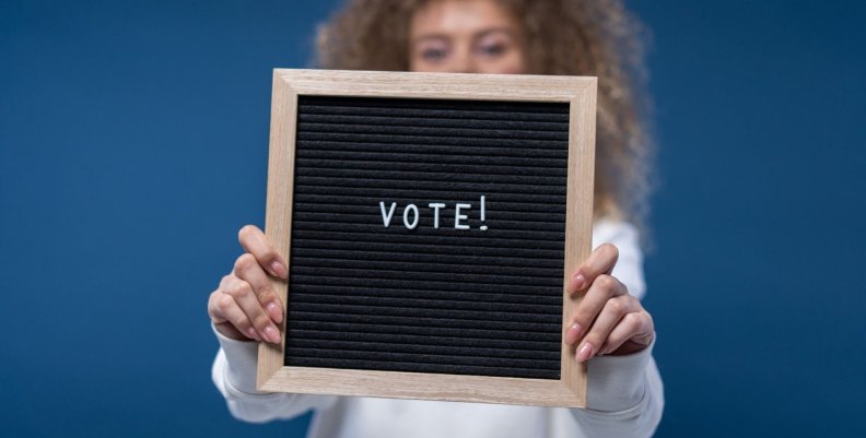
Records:
[[[619,0],[354,0],[319,35],[330,69],[599,76],[596,221],[590,257],[570,293],[585,294],[563,340],[588,362],[587,409],[261,393],[259,342],[280,342],[283,304],[269,275],[285,262],[255,226],[245,252],[208,303],[221,344],[213,379],[238,418],[264,422],[316,411],[311,437],[641,437],[662,415],[655,338],[643,294],[636,227],[647,138],[636,87],[636,22]]]

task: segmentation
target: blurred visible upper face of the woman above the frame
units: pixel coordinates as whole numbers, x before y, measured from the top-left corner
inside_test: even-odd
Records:
[[[409,37],[412,71],[527,70],[523,29],[494,0],[431,0],[412,16]]]

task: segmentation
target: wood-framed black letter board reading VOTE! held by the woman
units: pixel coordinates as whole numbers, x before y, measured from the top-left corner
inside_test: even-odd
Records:
[[[594,78],[276,70],[262,390],[585,405]]]

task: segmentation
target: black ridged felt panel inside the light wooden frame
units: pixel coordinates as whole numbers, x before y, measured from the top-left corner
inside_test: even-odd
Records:
[[[300,95],[284,365],[559,379],[567,135],[567,103]]]

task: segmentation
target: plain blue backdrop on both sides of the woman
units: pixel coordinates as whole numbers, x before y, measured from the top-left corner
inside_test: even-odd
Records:
[[[208,294],[264,222],[271,69],[336,1],[0,3],[0,434],[232,419]],[[866,3],[637,1],[658,436],[866,436]]]

